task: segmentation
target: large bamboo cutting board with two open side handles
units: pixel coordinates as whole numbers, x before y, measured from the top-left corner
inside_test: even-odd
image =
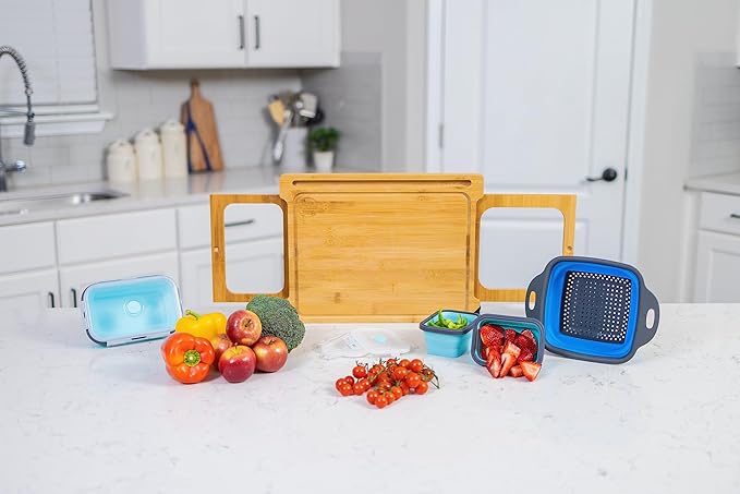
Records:
[[[280,195],[211,195],[217,302],[252,297],[226,287],[223,209],[233,203],[283,209],[286,285],[275,294],[307,322],[417,322],[440,308],[523,300],[523,289],[478,282],[478,228],[489,207],[560,209],[570,231],[563,253],[572,254],[573,196],[484,195],[480,174],[284,174]]]

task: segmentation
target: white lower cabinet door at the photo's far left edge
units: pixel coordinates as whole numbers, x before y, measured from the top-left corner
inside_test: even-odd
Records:
[[[43,309],[59,306],[56,269],[19,273],[0,277],[0,314],[31,324]]]

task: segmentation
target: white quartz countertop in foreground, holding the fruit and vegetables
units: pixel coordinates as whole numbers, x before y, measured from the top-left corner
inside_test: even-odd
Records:
[[[519,312],[484,306],[485,312]],[[159,341],[90,342],[74,310],[0,329],[3,493],[740,492],[740,304],[663,306],[622,365],[546,354],[533,383],[426,357],[441,389],[384,410],[342,398],[353,359],[310,325],[276,374],[172,381]]]

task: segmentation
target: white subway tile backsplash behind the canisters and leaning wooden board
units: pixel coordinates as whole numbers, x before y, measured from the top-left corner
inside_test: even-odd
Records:
[[[101,107],[114,113],[98,134],[37,137],[33,147],[21,138],[2,138],[4,159],[24,159],[24,173],[9,177],[11,188],[62,184],[105,179],[105,147],[131,138],[139,130],[180,118],[190,96],[190,80],[201,81],[214,104],[226,166],[269,164],[275,124],[266,106],[271,94],[298,89],[296,70],[98,71]]]

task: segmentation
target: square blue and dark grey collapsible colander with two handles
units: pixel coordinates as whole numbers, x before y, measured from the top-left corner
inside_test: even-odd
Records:
[[[534,304],[531,305],[534,293]],[[526,290],[526,316],[545,327],[545,348],[565,357],[622,363],[658,328],[660,308],[634,267],[556,257]],[[653,312],[647,325],[648,312]]]

